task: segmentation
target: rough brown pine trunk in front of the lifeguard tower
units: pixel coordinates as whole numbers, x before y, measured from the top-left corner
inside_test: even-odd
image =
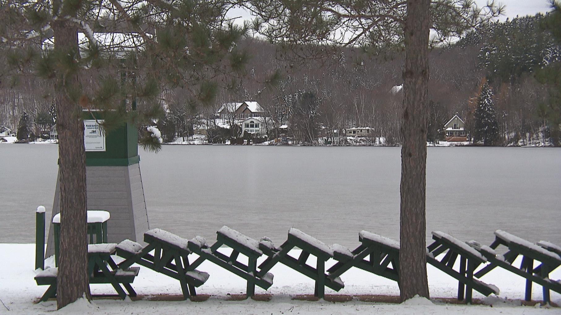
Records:
[[[75,53],[77,29],[66,20],[53,21],[55,49]],[[75,74],[57,78],[58,158],[61,171],[61,238],[57,276],[57,307],[60,309],[83,295],[90,299],[88,243],[86,238],[86,157],[84,123],[76,102],[67,94],[77,88]]]

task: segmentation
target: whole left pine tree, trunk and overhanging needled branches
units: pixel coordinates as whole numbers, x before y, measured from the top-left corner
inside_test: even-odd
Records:
[[[57,107],[61,174],[58,308],[90,298],[82,112],[100,111],[105,130],[153,126],[163,115],[158,97],[170,86],[210,104],[248,59],[237,45],[247,27],[226,17],[229,7],[222,0],[2,2],[0,84],[33,76],[54,88],[47,93]],[[158,137],[144,130],[141,145],[158,150]]]

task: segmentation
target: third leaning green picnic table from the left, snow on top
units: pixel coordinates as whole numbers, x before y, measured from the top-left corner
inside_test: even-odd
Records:
[[[298,258],[288,255],[288,252],[295,247],[302,250]],[[259,265],[258,276],[264,275],[275,264],[282,263],[315,280],[314,295],[320,299],[325,296],[325,286],[335,291],[344,287],[341,278],[330,278],[325,274],[325,262],[333,258],[333,249],[300,230],[294,228],[288,230],[288,239],[279,247],[275,247],[270,239],[263,238],[259,243],[259,248],[268,258]],[[317,258],[315,267],[306,264],[310,255]]]

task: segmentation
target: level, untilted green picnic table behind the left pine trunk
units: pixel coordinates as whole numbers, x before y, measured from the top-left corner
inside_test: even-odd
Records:
[[[121,299],[125,299],[125,290],[130,296],[136,296],[131,283],[138,275],[139,267],[119,268],[111,255],[116,251],[117,244],[90,244],[88,245],[88,274],[90,284],[111,284]],[[49,285],[41,297],[41,301],[54,298],[57,294],[57,267],[50,267],[35,276],[37,285]]]

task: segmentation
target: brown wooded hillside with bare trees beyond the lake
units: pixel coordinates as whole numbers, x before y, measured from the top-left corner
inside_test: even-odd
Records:
[[[492,98],[494,112],[488,118],[498,125],[496,139],[490,143],[559,145],[559,112],[551,109],[550,87],[541,71],[558,65],[561,48],[544,27],[544,19],[536,15],[484,25],[448,47],[431,51],[429,141],[443,139],[443,126],[454,114],[463,118],[472,138],[482,86],[488,85],[491,93],[485,95]],[[318,138],[327,137],[342,144],[344,137],[337,131],[371,127],[373,138],[399,144],[400,52],[380,57],[363,48],[329,48],[328,57],[302,61],[251,35],[238,48],[251,59],[237,80],[223,83],[214,106],[197,106],[182,96],[186,93],[180,88],[162,94],[167,115],[159,125],[168,134],[164,140],[190,135],[196,126],[216,128],[214,114],[223,103],[257,101],[270,117],[270,137],[277,136],[278,127],[288,120],[289,136],[300,143],[317,144]],[[52,95],[43,92],[44,84],[33,77],[17,83],[2,81],[0,125],[16,130],[26,113],[31,133],[44,133],[54,105]]]

